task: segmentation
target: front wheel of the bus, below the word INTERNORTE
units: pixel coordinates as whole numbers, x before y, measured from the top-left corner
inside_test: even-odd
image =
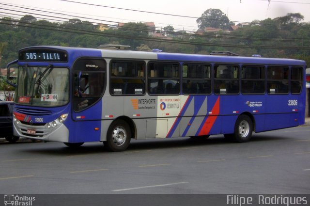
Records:
[[[131,139],[131,130],[124,120],[114,121],[107,133],[107,142],[104,142],[106,149],[112,152],[122,152],[127,149]]]

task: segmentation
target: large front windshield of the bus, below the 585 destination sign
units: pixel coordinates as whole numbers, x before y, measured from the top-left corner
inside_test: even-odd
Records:
[[[15,102],[23,105],[55,107],[69,101],[69,69],[63,67],[20,66]]]

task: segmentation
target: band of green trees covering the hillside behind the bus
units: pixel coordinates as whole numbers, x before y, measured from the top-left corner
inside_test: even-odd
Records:
[[[96,48],[100,44],[129,45],[132,50],[141,51],[158,48],[164,52],[196,54],[229,50],[243,56],[260,54],[263,57],[301,59],[310,66],[310,49],[303,49],[310,48],[310,23],[300,23],[302,19],[299,13],[287,14],[275,19],[253,20],[248,27],[230,33],[202,35],[175,32],[169,25],[164,31],[170,38],[160,39],[153,38],[147,26],[141,22],[129,22],[118,29],[100,32],[97,25],[78,18],[50,22],[37,20],[31,15],[20,19],[3,17],[0,19],[0,68],[5,68],[9,62],[17,59],[18,50],[25,47],[55,45]],[[206,10],[197,19],[197,23],[202,29],[227,29],[233,25],[219,9]]]

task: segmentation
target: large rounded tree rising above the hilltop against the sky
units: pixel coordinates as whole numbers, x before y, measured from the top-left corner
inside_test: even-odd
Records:
[[[234,25],[233,22],[219,9],[208,9],[201,17],[197,18],[196,22],[200,29],[205,27],[214,27],[218,29],[228,29]]]

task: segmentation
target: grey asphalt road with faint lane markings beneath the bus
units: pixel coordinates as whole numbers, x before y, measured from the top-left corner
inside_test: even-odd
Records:
[[[310,193],[310,126],[253,134],[102,143],[0,143],[0,191],[24,194]]]

